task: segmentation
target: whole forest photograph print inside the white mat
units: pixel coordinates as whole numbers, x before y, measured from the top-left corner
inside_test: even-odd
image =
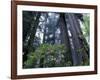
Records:
[[[23,11],[23,68],[89,65],[88,13]]]

